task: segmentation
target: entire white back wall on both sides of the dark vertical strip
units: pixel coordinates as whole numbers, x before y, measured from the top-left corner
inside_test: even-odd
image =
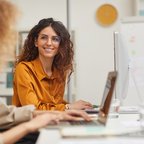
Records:
[[[113,32],[119,30],[122,18],[137,14],[137,0],[11,0],[21,10],[18,31],[28,31],[42,18],[62,21],[75,48],[75,73],[67,99],[84,99],[99,104],[108,71],[114,69]],[[110,26],[102,26],[97,9],[112,4],[118,13]],[[1,94],[2,95],[2,94]],[[7,95],[7,94],[4,94]],[[10,93],[8,94],[10,95]],[[134,103],[134,99],[130,103]]]

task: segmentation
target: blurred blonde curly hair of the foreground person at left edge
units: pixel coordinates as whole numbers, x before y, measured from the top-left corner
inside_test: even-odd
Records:
[[[17,17],[17,7],[8,0],[0,0],[0,66],[14,58]]]

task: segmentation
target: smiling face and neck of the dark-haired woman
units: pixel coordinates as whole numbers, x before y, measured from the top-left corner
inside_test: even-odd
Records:
[[[52,74],[52,69],[47,68],[45,63],[50,63],[50,65],[53,63],[54,57],[58,54],[60,39],[52,27],[48,26],[39,33],[37,40],[35,40],[39,58],[48,76],[50,76],[49,73]]]

